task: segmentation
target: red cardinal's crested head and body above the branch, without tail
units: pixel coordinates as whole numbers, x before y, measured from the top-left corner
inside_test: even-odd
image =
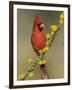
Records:
[[[42,50],[45,47],[46,39],[45,32],[43,31],[44,27],[45,25],[40,22],[39,17],[35,16],[31,42],[37,54],[39,54],[39,50]]]

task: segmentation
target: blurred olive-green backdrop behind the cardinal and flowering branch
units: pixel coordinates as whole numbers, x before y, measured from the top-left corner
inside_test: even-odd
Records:
[[[59,16],[62,11],[24,10],[17,9],[17,76],[27,71],[29,68],[28,59],[36,58],[36,54],[31,45],[31,34],[35,15],[38,15],[46,24],[45,31],[50,32],[52,24],[59,23]],[[46,66],[50,79],[64,77],[64,31],[57,34],[54,47],[50,48],[46,54]],[[34,70],[32,78],[27,80],[42,79],[40,67]]]

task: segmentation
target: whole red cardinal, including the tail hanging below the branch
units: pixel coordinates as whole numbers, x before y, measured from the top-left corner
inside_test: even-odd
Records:
[[[45,47],[46,36],[45,36],[45,32],[43,31],[44,27],[45,24],[40,22],[39,16],[35,16],[34,26],[31,36],[31,43],[37,55],[39,55],[39,50],[42,50]],[[40,68],[42,72],[42,78],[47,79],[48,73],[45,64],[40,65]]]

